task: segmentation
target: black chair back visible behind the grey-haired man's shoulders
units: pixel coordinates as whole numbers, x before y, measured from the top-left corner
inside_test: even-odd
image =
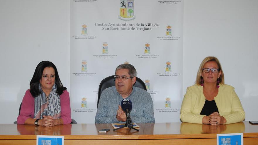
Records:
[[[99,84],[99,92],[98,92],[98,103],[97,103],[97,107],[99,105],[99,98],[100,98],[100,95],[102,93],[102,91],[104,91],[106,88],[109,88],[109,87],[112,87],[112,86],[115,86],[115,80],[114,80],[114,76],[108,76],[106,77],[105,79],[103,79],[100,84]],[[142,88],[144,90],[147,91],[147,88],[146,88],[146,85],[145,83],[138,77],[136,77],[136,82],[135,84],[133,85],[135,87],[138,87],[138,88]]]

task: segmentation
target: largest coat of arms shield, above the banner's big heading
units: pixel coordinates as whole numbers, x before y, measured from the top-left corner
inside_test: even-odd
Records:
[[[120,17],[132,18],[134,16],[134,1],[120,0]]]

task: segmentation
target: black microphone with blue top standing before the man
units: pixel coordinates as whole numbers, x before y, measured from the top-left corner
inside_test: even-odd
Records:
[[[133,104],[131,102],[131,100],[129,99],[123,99],[121,101],[121,108],[125,111],[125,114],[126,114],[126,126],[128,128],[133,128],[133,123],[132,123],[132,119],[131,119],[131,116],[130,116],[130,111],[132,110],[133,108]]]

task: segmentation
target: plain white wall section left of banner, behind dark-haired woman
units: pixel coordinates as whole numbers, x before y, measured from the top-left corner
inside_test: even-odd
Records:
[[[0,123],[13,123],[36,66],[53,62],[70,91],[69,1],[0,1]]]

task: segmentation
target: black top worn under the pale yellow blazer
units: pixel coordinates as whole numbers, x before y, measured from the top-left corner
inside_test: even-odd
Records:
[[[205,103],[204,103],[204,106],[203,106],[203,109],[202,109],[200,115],[209,116],[213,112],[219,113],[218,107],[215,103],[215,100],[212,100],[212,101],[205,100]]]

